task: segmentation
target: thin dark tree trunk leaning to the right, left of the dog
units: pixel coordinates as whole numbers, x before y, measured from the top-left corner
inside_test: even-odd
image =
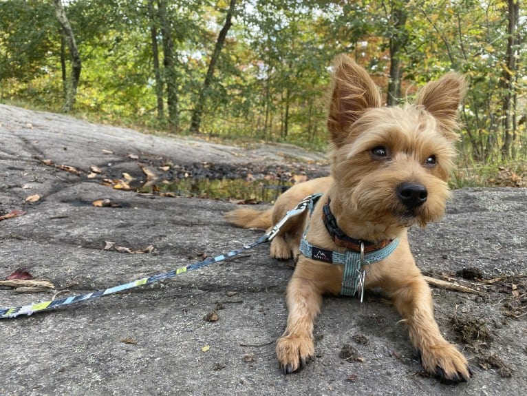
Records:
[[[214,46],[214,52],[213,52],[213,55],[211,56],[211,62],[208,63],[207,74],[205,76],[205,80],[203,81],[203,85],[200,90],[200,95],[197,98],[197,102],[192,112],[190,132],[193,134],[197,134],[200,132],[203,108],[204,108],[205,101],[207,98],[208,87],[210,87],[211,85],[214,70],[216,67],[216,62],[219,58],[219,53],[222,51],[223,45],[225,43],[225,39],[227,37],[227,33],[230,29],[230,26],[232,25],[231,21],[233,19],[233,13],[234,13],[235,6],[236,6],[236,0],[230,0],[230,5],[227,11],[225,23],[223,25],[222,30],[219,31],[218,38],[216,40],[216,45]]]

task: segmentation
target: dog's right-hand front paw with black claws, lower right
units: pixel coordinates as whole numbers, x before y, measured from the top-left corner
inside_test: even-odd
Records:
[[[452,344],[422,348],[418,352],[424,370],[442,382],[467,382],[472,375],[469,362]]]

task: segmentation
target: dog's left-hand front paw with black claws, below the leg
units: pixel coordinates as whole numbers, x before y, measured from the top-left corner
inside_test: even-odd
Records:
[[[282,373],[304,368],[314,355],[314,344],[308,335],[284,335],[277,341],[277,357]]]

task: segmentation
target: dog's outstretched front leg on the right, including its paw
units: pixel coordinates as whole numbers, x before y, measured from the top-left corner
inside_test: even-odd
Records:
[[[405,318],[410,340],[420,353],[424,370],[447,382],[466,382],[471,375],[468,362],[442,337],[433,317],[431,291],[422,275],[406,280],[391,293],[391,298]]]

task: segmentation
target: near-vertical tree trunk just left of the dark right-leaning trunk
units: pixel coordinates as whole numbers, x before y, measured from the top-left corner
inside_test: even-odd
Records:
[[[178,78],[175,73],[174,43],[172,41],[171,23],[166,11],[166,1],[158,0],[159,19],[163,42],[163,68],[166,81],[166,105],[169,110],[169,123],[178,132],[180,114],[178,109]]]

